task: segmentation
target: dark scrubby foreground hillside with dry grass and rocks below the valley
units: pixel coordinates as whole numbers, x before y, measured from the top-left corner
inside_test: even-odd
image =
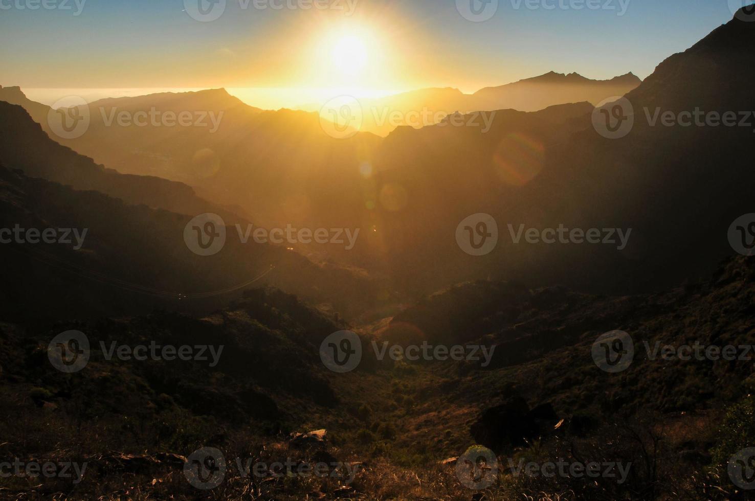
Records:
[[[498,301],[480,305],[479,297]],[[269,289],[250,290],[202,318],[156,313],[3,324],[8,415],[0,450],[89,466],[80,482],[31,487],[13,478],[6,492],[69,499],[245,499],[249,492],[276,499],[748,499],[726,468],[755,443],[752,353],[739,357],[755,343],[753,298],[752,261],[744,257],[723,263],[708,281],[641,296],[461,284],[364,327],[366,356],[350,373],[328,372],[318,356],[325,337],[346,326]],[[455,327],[436,333],[435,316]],[[470,318],[477,321],[460,327]],[[369,361],[371,340],[380,346],[390,330],[407,325],[430,346],[481,346],[492,356],[486,364]],[[91,355],[82,370],[64,374],[47,350],[70,329],[85,333]],[[634,356],[623,370],[607,372],[593,346],[616,329],[631,338],[624,347]],[[114,343],[224,348],[207,360],[108,360]],[[713,346],[719,354],[735,346],[738,356],[655,356],[656,343],[700,345],[703,352]],[[26,420],[11,419],[16,414]],[[479,490],[455,469],[455,458],[473,444],[495,451],[498,461],[492,483]],[[199,447],[215,447],[227,459],[227,472],[209,491],[183,475]],[[286,460],[335,466],[325,478],[271,466]],[[610,463],[623,473],[587,479],[516,468],[559,460]],[[263,465],[257,475],[239,469],[246,461]]]

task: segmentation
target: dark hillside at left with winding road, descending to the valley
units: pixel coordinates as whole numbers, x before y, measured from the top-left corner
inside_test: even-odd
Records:
[[[365,275],[318,266],[285,247],[244,244],[233,226],[218,254],[200,256],[184,239],[191,216],[6,168],[0,169],[0,205],[5,283],[0,314],[7,320],[133,315],[156,308],[206,312],[252,283],[330,303],[347,315],[374,304],[374,285]],[[41,239],[48,229],[57,236]]]

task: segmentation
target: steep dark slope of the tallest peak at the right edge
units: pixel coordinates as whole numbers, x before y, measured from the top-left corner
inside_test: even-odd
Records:
[[[748,159],[755,119],[741,122],[743,113],[755,109],[748,84],[753,68],[755,26],[735,17],[661,63],[618,103],[633,116],[626,135],[604,137],[596,119],[568,143],[549,149],[548,168],[510,200],[507,212],[529,223],[535,217],[527,211],[537,207],[538,223],[547,226],[632,228],[627,252],[606,262],[614,263],[606,284],[653,287],[707,275],[733,254],[729,226],[753,212],[747,199],[755,181]],[[684,112],[710,120],[689,125]],[[727,113],[737,117],[733,126],[715,118]],[[668,124],[654,121],[668,114]],[[579,266],[588,280],[599,280],[594,263]]]

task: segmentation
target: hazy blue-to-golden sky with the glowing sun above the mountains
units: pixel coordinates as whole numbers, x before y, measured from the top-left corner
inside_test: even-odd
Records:
[[[498,0],[480,23],[460,14],[470,0],[214,1],[0,0],[0,85],[475,91],[551,70],[645,78],[739,0]],[[193,19],[199,2],[222,14]],[[586,3],[612,10],[575,8]]]

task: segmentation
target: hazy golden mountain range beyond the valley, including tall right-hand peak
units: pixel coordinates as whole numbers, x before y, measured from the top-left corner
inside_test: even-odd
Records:
[[[743,160],[752,128],[652,126],[645,109],[651,115],[656,108],[755,109],[749,88],[753,29],[753,23],[732,20],[661,63],[626,94],[635,126],[618,140],[596,131],[593,101],[603,97],[597,94],[593,101],[537,112],[493,110],[488,130],[467,126],[479,114],[458,113],[420,129],[399,127],[385,139],[359,133],[339,140],[325,134],[315,113],[260,111],[211,90],[93,103],[89,130],[60,142],[119,171],[182,181],[217,210],[230,207],[261,226],[359,228],[353,250],[310,245],[297,251],[316,263],[365,270],[392,290],[424,294],[489,277],[535,285],[557,281],[595,292],[646,290],[707,275],[716,260],[732,253],[726,230],[735,217],[751,212],[746,191],[755,174]],[[550,73],[478,94],[516,96],[517,89],[532,85],[579,92],[599,87],[612,94],[636,83],[633,75],[595,84]],[[23,100],[17,90],[0,96],[5,94]],[[418,91],[395,100],[424,106],[455,94]],[[535,104],[535,97],[548,93],[525,94],[533,99],[528,106],[541,106],[546,101]],[[26,101],[42,119],[45,109]],[[214,132],[108,126],[102,119],[102,109],[107,116],[112,109],[152,108],[223,112],[223,119]],[[452,123],[463,126],[446,126]],[[452,238],[458,223],[476,213],[491,214],[499,225],[501,243],[485,257],[467,256]],[[669,218],[677,221],[672,227],[662,223]],[[621,251],[513,244],[508,225],[632,234]],[[695,252],[680,251],[690,245]]]

